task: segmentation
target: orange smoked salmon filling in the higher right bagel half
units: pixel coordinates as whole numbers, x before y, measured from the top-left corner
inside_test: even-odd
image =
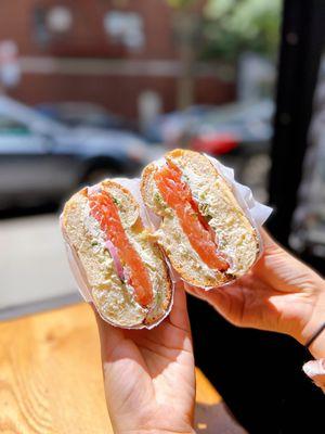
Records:
[[[182,180],[182,170],[170,158],[166,162],[154,175],[164,201],[176,212],[183,231],[202,260],[211,269],[225,271],[229,264],[218,253],[216,234],[199,213],[190,187]]]

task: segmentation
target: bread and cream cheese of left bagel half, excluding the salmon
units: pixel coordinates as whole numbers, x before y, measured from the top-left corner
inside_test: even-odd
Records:
[[[141,306],[133,289],[118,277],[114,259],[105,247],[105,233],[90,215],[88,189],[84,188],[65,204],[62,225],[87,276],[92,301],[100,315],[114,326],[141,328],[158,323],[165,318],[172,297],[161,250],[143,227],[139,205],[126,188],[113,180],[105,180],[96,188],[106,191],[118,207],[128,240],[147,269],[154,297],[150,306]]]

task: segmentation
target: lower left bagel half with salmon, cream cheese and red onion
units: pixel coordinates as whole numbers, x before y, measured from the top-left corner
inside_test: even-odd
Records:
[[[113,180],[82,189],[65,204],[62,229],[105,320],[141,328],[165,318],[172,294],[168,269],[129,190]]]

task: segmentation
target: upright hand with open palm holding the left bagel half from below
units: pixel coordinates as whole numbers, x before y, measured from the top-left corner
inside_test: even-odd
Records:
[[[192,433],[195,371],[186,297],[153,330],[123,330],[99,315],[104,386],[116,433]]]

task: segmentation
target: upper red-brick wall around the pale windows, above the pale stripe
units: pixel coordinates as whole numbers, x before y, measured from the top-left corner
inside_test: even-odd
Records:
[[[73,28],[64,38],[48,43],[38,42],[37,11],[49,11],[52,5],[66,5],[73,14]],[[140,52],[123,52],[121,56],[136,59],[171,59],[176,56],[171,29],[171,10],[165,0],[1,0],[0,40],[14,39],[22,54],[48,55],[52,51],[73,55],[115,56],[115,43],[103,27],[103,16],[112,10],[138,12],[143,17],[146,43]],[[61,46],[61,48],[60,48]]]

